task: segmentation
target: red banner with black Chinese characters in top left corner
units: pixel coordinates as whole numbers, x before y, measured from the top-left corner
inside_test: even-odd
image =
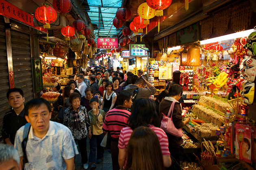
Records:
[[[21,10],[20,8],[14,6],[13,4],[0,0],[0,15],[5,17],[16,19],[21,21],[29,26],[34,27],[34,17],[29,13]]]

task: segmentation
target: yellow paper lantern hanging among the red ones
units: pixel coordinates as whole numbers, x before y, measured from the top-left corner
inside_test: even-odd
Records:
[[[142,4],[139,5],[138,7],[138,15],[144,19],[144,23],[146,25],[149,24],[149,19],[153,18],[155,16],[155,9],[150,8],[147,4],[147,2],[144,2]]]

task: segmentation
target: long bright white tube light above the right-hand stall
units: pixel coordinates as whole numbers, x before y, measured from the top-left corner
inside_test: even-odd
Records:
[[[215,43],[215,42],[224,41],[224,40],[231,40],[234,38],[245,37],[245,36],[249,36],[249,34],[251,34],[252,32],[254,32],[254,29],[236,32],[233,34],[228,34],[228,35],[219,36],[215,38],[210,38],[208,40],[202,40],[200,41],[200,44],[204,45],[204,44]]]

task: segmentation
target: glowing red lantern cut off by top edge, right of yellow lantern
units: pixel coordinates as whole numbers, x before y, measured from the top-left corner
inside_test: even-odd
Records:
[[[157,17],[163,16],[163,10],[168,8],[170,6],[172,0],[147,0],[147,4],[150,8],[153,8],[156,10],[155,15]]]

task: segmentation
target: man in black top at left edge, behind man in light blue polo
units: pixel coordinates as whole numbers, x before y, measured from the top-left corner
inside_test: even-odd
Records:
[[[24,116],[25,98],[22,89],[9,89],[7,99],[13,109],[4,115],[2,137],[5,143],[13,146],[17,130],[27,123]]]

